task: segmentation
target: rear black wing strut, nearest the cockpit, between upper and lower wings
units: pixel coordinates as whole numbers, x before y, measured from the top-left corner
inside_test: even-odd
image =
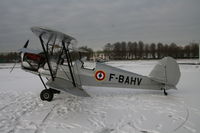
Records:
[[[62,41],[62,45],[63,45],[63,49],[65,51],[65,55],[66,55],[66,58],[67,58],[67,63],[68,63],[68,67],[69,67],[69,71],[70,71],[71,77],[72,77],[73,86],[76,87],[76,83],[75,83],[73,72],[72,72],[72,68],[71,68],[72,64],[70,63],[71,62],[71,58],[70,58],[68,46],[67,46],[67,48],[65,47],[65,42],[64,41]]]

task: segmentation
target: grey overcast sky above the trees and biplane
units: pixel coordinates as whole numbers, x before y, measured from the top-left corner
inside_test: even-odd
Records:
[[[0,52],[15,51],[45,26],[102,49],[117,41],[200,42],[200,0],[0,0]]]

